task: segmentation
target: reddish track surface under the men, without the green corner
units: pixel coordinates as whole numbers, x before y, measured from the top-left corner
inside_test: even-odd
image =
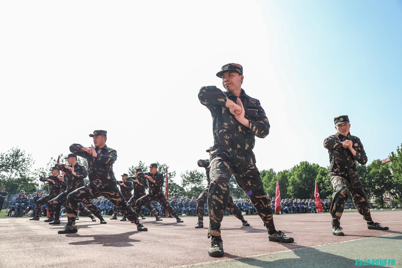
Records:
[[[31,267],[33,262],[44,267],[171,267],[203,262],[268,254],[336,243],[402,231],[400,211],[374,212],[373,220],[390,227],[388,231],[368,230],[358,213],[344,213],[341,226],[346,236],[331,233],[330,215],[274,215],[277,230],[294,237],[295,243],[268,241],[261,219],[246,216],[250,227],[243,227],[235,217],[224,217],[222,238],[225,255],[212,258],[207,254],[210,239],[207,228],[195,229],[196,217],[182,217],[156,222],[147,217],[141,221],[148,232],[138,232],[135,225],[107,219],[106,225],[82,217],[78,233],[59,235],[63,225],[48,225],[27,218],[0,219],[0,267]],[[208,218],[205,217],[205,224]],[[62,223],[65,223],[64,218]],[[18,260],[18,261],[16,261]]]

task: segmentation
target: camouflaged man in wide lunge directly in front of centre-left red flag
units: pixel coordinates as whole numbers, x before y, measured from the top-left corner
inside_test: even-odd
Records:
[[[182,223],[183,221],[178,217],[176,211],[169,205],[168,200],[162,192],[164,178],[162,173],[157,171],[158,165],[153,163],[149,166],[150,172],[147,174],[138,173],[138,177],[147,178],[149,180],[149,192],[142,196],[135,202],[135,211],[139,213],[141,206],[150,203],[152,200],[156,200],[162,205],[173,217],[176,218],[176,222]],[[162,220],[162,219],[161,219]]]

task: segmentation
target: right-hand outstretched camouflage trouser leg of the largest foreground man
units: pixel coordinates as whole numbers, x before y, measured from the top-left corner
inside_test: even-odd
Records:
[[[237,184],[250,197],[258,215],[263,220],[269,232],[275,232],[275,225],[272,215],[271,199],[264,190],[263,181],[257,167],[240,170],[234,175]]]

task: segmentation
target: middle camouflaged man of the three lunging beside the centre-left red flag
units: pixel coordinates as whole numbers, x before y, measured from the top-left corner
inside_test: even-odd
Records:
[[[135,202],[137,202],[137,200],[139,198],[141,198],[142,196],[144,196],[145,193],[145,189],[148,188],[148,180],[144,177],[139,177],[137,176],[137,174],[142,173],[142,168],[136,168],[135,169],[135,176],[134,177],[127,177],[127,180],[130,180],[131,182],[133,182],[133,187],[134,187],[134,194],[133,196],[131,196],[131,198],[128,200],[128,204],[135,209]],[[152,215],[154,215],[155,219],[157,221],[161,221],[162,219],[160,219],[160,217],[158,216],[158,212],[154,209],[154,207],[148,203],[145,204],[146,207],[149,209],[150,213]],[[140,210],[139,215],[141,216],[141,218],[144,220],[145,217],[142,214],[142,211]]]

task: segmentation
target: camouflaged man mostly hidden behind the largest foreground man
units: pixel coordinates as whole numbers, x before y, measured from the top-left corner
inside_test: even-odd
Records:
[[[206,150],[207,153],[211,151],[212,147],[209,147],[209,149]],[[201,168],[205,168],[205,175],[207,178],[207,188],[205,188],[201,194],[197,198],[197,216],[198,216],[198,222],[195,225],[195,228],[203,228],[204,227],[204,214],[205,214],[205,208],[204,205],[207,203],[207,198],[208,198],[208,190],[209,190],[209,184],[211,183],[211,179],[209,178],[209,159],[205,160],[198,160],[197,164]],[[207,206],[208,207],[208,206]],[[233,202],[233,198],[230,195],[229,196],[229,201],[227,208],[229,211],[240,221],[242,221],[243,226],[250,226],[250,224],[244,219],[242,215],[242,211],[236,207],[236,205]]]

